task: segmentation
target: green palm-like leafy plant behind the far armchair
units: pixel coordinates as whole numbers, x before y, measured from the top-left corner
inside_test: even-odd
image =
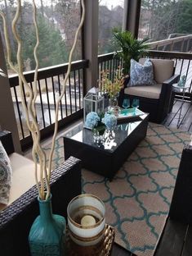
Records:
[[[142,56],[145,56],[146,49],[148,49],[148,46],[145,44],[147,39],[135,39],[130,31],[120,31],[118,29],[113,30],[113,36],[114,43],[122,49],[116,55],[123,58],[123,73],[127,75],[130,71],[131,59],[133,58],[138,62]]]

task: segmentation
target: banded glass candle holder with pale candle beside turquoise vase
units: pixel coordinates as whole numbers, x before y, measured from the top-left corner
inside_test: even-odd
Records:
[[[105,234],[105,204],[93,194],[80,194],[67,208],[69,236],[77,245],[100,243]]]

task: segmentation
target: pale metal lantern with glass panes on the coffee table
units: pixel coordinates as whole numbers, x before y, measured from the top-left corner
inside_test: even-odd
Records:
[[[100,94],[98,88],[90,89],[83,99],[83,117],[86,120],[89,112],[103,112],[104,111],[104,97]]]

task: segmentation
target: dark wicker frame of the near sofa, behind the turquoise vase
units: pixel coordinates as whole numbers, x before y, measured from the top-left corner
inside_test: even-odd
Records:
[[[10,152],[11,143],[8,141],[7,148],[3,139],[2,144]],[[51,194],[53,213],[66,217],[69,201],[81,194],[80,160],[71,157],[51,172]],[[38,190],[34,185],[0,212],[0,255],[30,255],[28,235],[39,213],[37,197]]]

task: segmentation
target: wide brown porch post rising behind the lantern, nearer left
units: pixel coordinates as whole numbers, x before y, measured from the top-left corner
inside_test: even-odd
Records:
[[[84,94],[97,84],[98,73],[98,0],[85,0],[86,16],[83,25],[83,59],[89,60],[84,72]]]

